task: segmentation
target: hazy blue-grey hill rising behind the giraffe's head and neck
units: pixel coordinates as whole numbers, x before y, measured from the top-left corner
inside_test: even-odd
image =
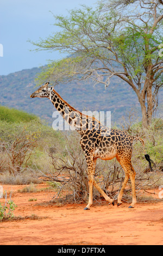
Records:
[[[30,94],[36,90],[35,76],[39,72],[40,68],[33,68],[0,76],[0,105],[35,114],[52,124],[52,114],[55,111],[52,103],[48,99],[30,98]],[[112,123],[121,124],[122,115],[129,113],[132,107],[141,117],[137,96],[128,84],[116,77],[112,78],[106,90],[101,84],[93,87],[92,84],[79,81],[66,85],[60,84],[55,87],[55,90],[79,111],[111,111]],[[162,96],[161,91],[161,104]]]

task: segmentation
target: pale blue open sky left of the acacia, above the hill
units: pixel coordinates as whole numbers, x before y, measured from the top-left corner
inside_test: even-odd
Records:
[[[58,31],[54,15],[68,15],[81,4],[95,6],[96,0],[1,0],[0,1],[0,75],[31,69],[61,59],[59,52],[30,51],[28,42],[47,38]],[[52,14],[52,13],[53,14]]]

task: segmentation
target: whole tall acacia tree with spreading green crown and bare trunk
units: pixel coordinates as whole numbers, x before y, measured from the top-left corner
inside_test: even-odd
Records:
[[[103,0],[96,8],[82,5],[67,17],[55,16],[60,32],[33,44],[68,57],[51,61],[39,80],[91,79],[108,87],[117,76],[136,93],[143,127],[148,127],[163,85],[162,11],[161,0]]]

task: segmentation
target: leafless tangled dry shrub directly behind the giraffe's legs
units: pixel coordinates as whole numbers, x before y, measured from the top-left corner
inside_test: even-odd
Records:
[[[80,136],[77,132],[64,133],[64,136],[64,148],[61,149],[59,145],[55,144],[46,149],[53,169],[46,169],[45,171],[37,169],[33,175],[43,181],[49,181],[54,184],[54,202],[86,202],[89,195],[89,179],[86,172],[85,155],[79,144]],[[145,173],[141,167],[140,171],[137,172],[135,180],[137,191],[145,186],[150,187],[155,183],[155,181],[151,182],[151,175],[153,173]],[[116,199],[122,187],[124,172],[115,159],[111,161],[98,159],[95,179],[109,197]],[[130,181],[124,192],[124,199],[128,200],[130,198],[129,195],[131,195]],[[93,189],[93,200],[96,200],[98,203],[101,203],[101,200],[103,200],[101,194],[96,189]]]

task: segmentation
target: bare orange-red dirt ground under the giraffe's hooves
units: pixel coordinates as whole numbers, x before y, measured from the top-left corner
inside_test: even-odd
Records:
[[[17,192],[22,188],[3,185],[3,190],[12,190],[14,215],[22,219],[0,222],[0,245],[163,245],[162,202],[138,203],[134,209],[127,203],[119,207],[104,203],[84,211],[83,204],[45,204],[53,191]],[[159,198],[160,191],[154,192]],[[31,198],[37,201],[29,202]],[[34,215],[39,218],[24,218]]]

